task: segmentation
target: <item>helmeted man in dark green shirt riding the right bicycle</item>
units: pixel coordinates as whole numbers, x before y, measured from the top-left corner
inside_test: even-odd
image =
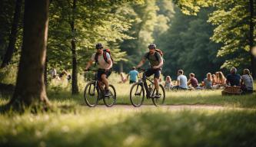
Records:
[[[150,68],[148,68],[145,71],[145,76],[150,77],[152,74],[154,74],[154,84],[156,89],[155,98],[160,98],[160,94],[158,93],[159,90],[159,82],[158,79],[161,74],[161,67],[163,66],[163,58],[161,57],[161,54],[159,54],[156,49],[155,44],[149,44],[148,45],[149,52],[146,53],[143,57],[140,63],[137,65],[136,68],[141,67],[143,64],[145,64],[145,61],[148,60],[150,63]]]

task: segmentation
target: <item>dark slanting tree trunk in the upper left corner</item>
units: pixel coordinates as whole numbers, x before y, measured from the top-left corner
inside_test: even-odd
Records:
[[[22,11],[22,0],[17,0],[15,5],[15,13],[12,21],[12,30],[11,30],[11,34],[9,35],[9,44],[8,44],[7,51],[5,53],[5,57],[1,64],[1,68],[6,67],[12,60],[12,55],[15,51],[15,43],[16,43],[17,32],[18,32],[18,21],[21,15],[21,11]]]

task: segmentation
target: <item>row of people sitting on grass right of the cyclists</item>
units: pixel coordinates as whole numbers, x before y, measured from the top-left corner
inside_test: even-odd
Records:
[[[201,83],[198,83],[194,73],[189,73],[189,79],[184,75],[183,70],[178,70],[176,84],[171,81],[171,77],[165,78],[165,89],[167,90],[213,90],[221,89],[226,86],[241,87],[243,93],[253,93],[254,80],[251,77],[250,70],[244,69],[243,75],[237,73],[235,67],[231,67],[230,73],[224,77],[221,71],[216,73],[207,73]]]

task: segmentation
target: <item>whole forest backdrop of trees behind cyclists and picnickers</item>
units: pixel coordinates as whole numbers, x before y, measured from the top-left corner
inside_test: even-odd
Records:
[[[111,49],[117,72],[127,73],[137,65],[150,43],[164,51],[163,75],[173,79],[179,69],[185,70],[187,76],[195,73],[198,80],[203,80],[208,72],[221,70],[227,74],[233,66],[238,73],[244,68],[254,70],[249,24],[251,20],[255,23],[255,12],[251,18],[250,4],[243,0],[52,0],[45,77],[52,68],[59,72],[68,70],[72,75],[72,93],[78,93],[77,75],[83,74],[98,42]],[[8,77],[15,77],[18,71],[8,69],[18,69],[23,13],[22,0],[1,0],[2,83],[15,84],[15,78]]]

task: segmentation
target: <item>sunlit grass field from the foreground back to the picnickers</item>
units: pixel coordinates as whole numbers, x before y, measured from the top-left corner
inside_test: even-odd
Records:
[[[150,106],[134,108],[128,96],[131,86],[114,85],[119,106],[112,108],[89,108],[82,94],[48,90],[54,111],[1,114],[0,146],[256,146],[255,94],[168,91],[168,106],[145,100]],[[1,97],[1,105],[7,102],[8,96]],[[170,109],[173,105],[206,107]]]

